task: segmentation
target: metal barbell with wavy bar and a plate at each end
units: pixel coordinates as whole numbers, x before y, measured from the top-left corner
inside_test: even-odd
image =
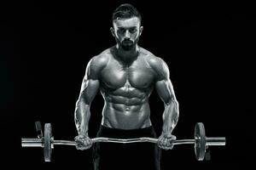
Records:
[[[39,132],[38,138],[21,138],[22,147],[42,147],[44,148],[44,161],[51,161],[52,149],[55,144],[64,145],[75,145],[72,140],[55,140],[52,136],[52,127],[50,123],[44,124],[44,135],[40,122],[36,122],[36,128]],[[156,144],[158,139],[154,138],[137,138],[137,139],[111,139],[111,138],[94,138],[91,139],[92,143],[96,142],[110,142],[110,143],[121,143],[130,144],[138,142],[149,142]],[[194,144],[195,147],[195,158],[198,161],[204,160],[206,151],[209,145],[225,145],[225,137],[206,137],[205,127],[202,122],[195,124],[194,139],[177,139],[173,141],[173,144]]]

